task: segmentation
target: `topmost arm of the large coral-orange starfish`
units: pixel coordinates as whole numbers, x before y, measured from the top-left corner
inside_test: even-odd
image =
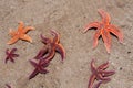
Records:
[[[102,21],[105,24],[109,24],[111,21],[111,16],[109,15],[109,13],[104,12],[103,10],[99,9],[98,12],[100,13],[100,15],[102,16]]]

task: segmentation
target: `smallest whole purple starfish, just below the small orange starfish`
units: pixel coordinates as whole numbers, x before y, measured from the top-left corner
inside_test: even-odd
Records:
[[[17,48],[12,48],[9,52],[9,48],[7,48],[7,51],[6,51],[6,54],[7,54],[6,63],[8,62],[8,59],[10,59],[12,63],[14,63],[13,57],[18,57],[19,56],[19,54],[14,54],[16,51],[17,51]]]

